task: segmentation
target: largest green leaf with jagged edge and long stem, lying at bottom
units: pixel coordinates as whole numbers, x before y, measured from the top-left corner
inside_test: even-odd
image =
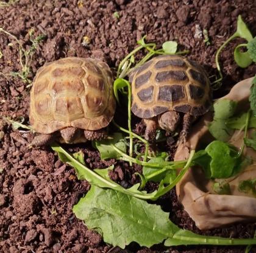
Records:
[[[92,186],[73,207],[76,217],[90,229],[100,229],[106,243],[124,249],[132,241],[151,247],[165,241],[165,246],[187,244],[251,244],[254,239],[230,239],[197,235],[180,229],[169,220],[160,206],[148,204],[110,189]]]

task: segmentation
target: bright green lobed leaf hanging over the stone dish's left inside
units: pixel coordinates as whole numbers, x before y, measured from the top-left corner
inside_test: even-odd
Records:
[[[230,148],[224,142],[214,140],[205,151],[212,158],[210,162],[212,178],[229,178],[236,165],[236,158],[230,156]]]

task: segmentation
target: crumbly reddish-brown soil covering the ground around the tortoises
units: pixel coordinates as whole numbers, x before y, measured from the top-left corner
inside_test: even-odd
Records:
[[[242,15],[252,33],[256,34],[255,1],[216,0],[93,0],[93,1],[32,1],[20,0],[0,9],[0,27],[17,36],[24,47],[29,46],[29,29],[35,35],[44,33],[32,60],[30,78],[46,61],[62,57],[102,58],[115,71],[119,61],[130,52],[136,41],[148,35],[148,41],[160,46],[166,40],[176,40],[180,49],[190,50],[188,57],[205,66],[209,76],[216,75],[215,52],[236,29],[236,18]],[[113,16],[119,13],[119,18]],[[207,29],[210,46],[203,38],[194,38],[196,25]],[[83,36],[91,39],[82,46]],[[9,44],[9,43],[13,44]],[[221,90],[214,96],[226,94],[230,87],[256,72],[255,64],[241,69],[233,61],[232,42],[221,54],[224,80]],[[20,69],[18,46],[15,41],[0,34],[0,72],[4,74]],[[29,89],[18,78],[0,75],[1,116],[29,123]],[[116,120],[126,122],[116,112]],[[138,119],[133,119],[138,123]],[[134,129],[141,133],[143,126]],[[86,181],[78,181],[73,168],[62,164],[50,148],[29,149],[31,133],[13,131],[0,118],[0,252],[244,252],[235,246],[180,246],[166,249],[162,244],[151,249],[132,243],[126,251],[105,244],[96,232],[87,230],[77,220],[72,207],[90,189]],[[163,147],[172,153],[171,145]],[[124,187],[135,182],[132,175],[140,167],[110,160],[101,161],[98,151],[90,144],[66,146],[69,151],[82,150],[90,168],[104,168],[115,164],[110,176]],[[154,184],[147,185],[148,190]],[[234,224],[221,229],[199,231],[188,214],[177,202],[175,190],[158,200],[163,210],[170,212],[174,223],[185,229],[207,235],[233,238],[252,238],[255,223]],[[256,252],[256,248],[252,249]]]

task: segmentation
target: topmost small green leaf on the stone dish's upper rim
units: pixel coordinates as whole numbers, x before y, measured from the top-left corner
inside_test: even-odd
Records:
[[[227,119],[235,113],[237,102],[229,99],[219,99],[214,103],[214,119]]]

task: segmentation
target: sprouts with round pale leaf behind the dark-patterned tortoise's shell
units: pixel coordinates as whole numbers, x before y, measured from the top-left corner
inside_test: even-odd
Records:
[[[164,54],[188,54],[188,50],[183,50],[177,52],[177,42],[176,41],[166,41],[162,45],[162,49],[155,49],[157,47],[157,44],[155,43],[145,43],[146,35],[143,36],[140,40],[137,41],[137,44],[139,45],[135,49],[130,52],[124,59],[120,62],[118,66],[118,71],[116,78],[124,78],[126,77],[132,69],[138,68],[142,64],[144,64],[146,61],[148,61],[151,57],[154,55],[164,55]],[[141,49],[146,49],[148,51],[148,54],[145,55],[135,66],[132,66],[135,63],[135,54],[140,51]]]

